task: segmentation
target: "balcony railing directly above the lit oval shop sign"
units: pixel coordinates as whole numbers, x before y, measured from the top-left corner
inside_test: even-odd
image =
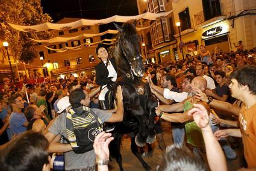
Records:
[[[220,10],[217,10],[217,8],[212,8],[211,10],[212,10],[213,15],[208,16],[207,19],[205,19],[204,11],[201,11],[201,12],[195,14],[194,15],[195,26],[200,25],[201,23],[203,23],[207,20],[210,20],[214,17],[223,16],[223,14],[224,14],[223,4],[220,4]]]

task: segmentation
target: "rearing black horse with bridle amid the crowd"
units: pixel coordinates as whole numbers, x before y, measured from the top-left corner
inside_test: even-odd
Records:
[[[141,81],[145,64],[142,61],[140,36],[136,32],[135,23],[115,25],[119,34],[111,55],[116,59],[116,87],[122,85],[123,89],[124,115],[123,122],[114,123],[114,140],[110,145],[110,152],[116,157],[120,170],[123,170],[120,143],[123,134],[130,135],[131,151],[146,170],[151,170],[137,152],[137,146],[142,147],[155,140],[154,117],[158,101],[152,96],[149,84]]]

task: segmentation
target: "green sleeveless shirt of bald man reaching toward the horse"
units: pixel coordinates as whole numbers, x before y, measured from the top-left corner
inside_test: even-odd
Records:
[[[190,101],[184,103],[184,111],[190,110],[193,107],[193,104]],[[196,122],[187,122],[185,124],[185,130],[187,135],[187,143],[195,147],[203,147],[204,139],[202,137],[201,128],[196,125]]]

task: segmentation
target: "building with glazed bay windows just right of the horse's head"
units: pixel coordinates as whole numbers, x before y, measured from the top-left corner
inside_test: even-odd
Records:
[[[151,12],[161,13],[172,10],[172,2],[168,0],[137,0],[139,14]],[[161,63],[175,59],[177,53],[173,14],[158,20],[142,20],[140,26],[151,26],[140,32],[142,49],[148,62]],[[144,44],[145,43],[145,44]]]

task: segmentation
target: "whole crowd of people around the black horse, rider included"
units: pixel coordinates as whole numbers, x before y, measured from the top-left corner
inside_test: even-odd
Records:
[[[237,47],[236,52],[226,53],[220,48],[210,52],[201,45],[198,53],[184,60],[145,64],[142,81],[160,101],[155,132],[163,162],[158,170],[207,170],[203,149],[211,170],[227,170],[226,161],[238,155],[230,140],[243,145],[245,160],[240,170],[256,169],[256,52]],[[101,125],[122,122],[122,87],[117,88],[117,101],[111,107],[106,94],[117,78],[116,63],[114,58],[108,60],[102,44],[96,54],[101,59],[96,76],[24,79],[22,85],[2,78],[0,170],[49,170],[54,165],[52,153],[64,154],[65,170],[96,170],[97,164],[98,170],[108,170],[108,144],[113,137]],[[77,120],[84,114],[99,120],[93,132],[98,135],[88,149],[78,149],[84,138],[78,137],[76,126],[88,118]],[[163,120],[172,123],[173,145],[167,148]],[[242,138],[242,144],[228,136]]]

